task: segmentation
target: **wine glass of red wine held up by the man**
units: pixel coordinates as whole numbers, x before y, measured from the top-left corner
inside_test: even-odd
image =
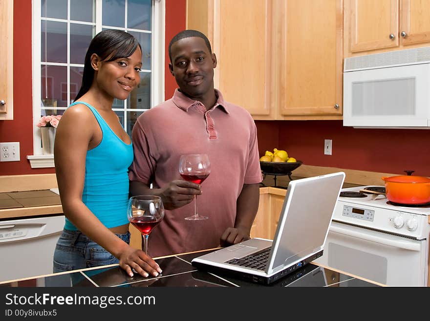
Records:
[[[179,174],[183,179],[196,184],[201,184],[211,173],[211,163],[206,154],[181,155],[179,159]],[[197,195],[194,195],[194,215],[185,217],[186,220],[194,221],[207,219],[197,213]]]

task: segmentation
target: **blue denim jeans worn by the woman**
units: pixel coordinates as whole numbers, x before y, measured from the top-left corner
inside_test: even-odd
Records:
[[[127,244],[130,232],[115,234]],[[119,263],[119,260],[80,231],[63,230],[54,251],[54,273]]]

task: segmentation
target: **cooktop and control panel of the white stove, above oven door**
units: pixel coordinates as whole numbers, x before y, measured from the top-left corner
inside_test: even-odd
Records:
[[[375,187],[384,189],[384,186],[342,189],[333,220],[414,239],[428,237],[430,205],[424,207],[392,205],[384,195],[360,193],[361,190]],[[343,194],[361,194],[362,197],[345,197]]]

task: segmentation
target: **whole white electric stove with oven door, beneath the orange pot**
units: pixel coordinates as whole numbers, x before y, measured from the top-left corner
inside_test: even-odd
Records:
[[[382,284],[427,286],[430,206],[396,206],[372,193],[344,196],[369,187],[384,188],[341,190],[323,256],[316,262]]]

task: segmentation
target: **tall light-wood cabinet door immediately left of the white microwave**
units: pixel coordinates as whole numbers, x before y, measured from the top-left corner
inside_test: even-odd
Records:
[[[342,115],[342,0],[278,0],[280,115]]]

